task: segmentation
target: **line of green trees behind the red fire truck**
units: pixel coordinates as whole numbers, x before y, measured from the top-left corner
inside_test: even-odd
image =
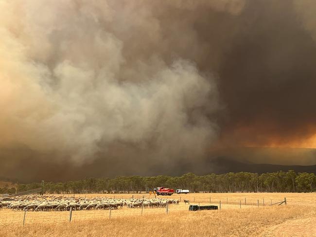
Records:
[[[274,173],[226,173],[197,176],[187,173],[178,177],[118,176],[116,178],[89,178],[69,182],[45,182],[46,193],[139,193],[155,187],[189,189],[190,192],[314,192],[314,173],[296,173],[294,170]],[[17,192],[41,187],[40,183],[18,184]]]

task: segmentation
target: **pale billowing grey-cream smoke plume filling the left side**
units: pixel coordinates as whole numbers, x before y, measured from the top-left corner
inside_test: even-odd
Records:
[[[177,53],[200,47],[190,19],[166,37],[151,1],[0,4],[0,146],[83,164],[121,146],[133,147],[118,152],[126,159],[202,157],[216,137],[216,82]],[[203,5],[235,15],[243,1],[168,4],[163,14]]]

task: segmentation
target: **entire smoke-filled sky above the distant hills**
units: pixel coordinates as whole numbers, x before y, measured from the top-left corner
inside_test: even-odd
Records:
[[[0,0],[0,177],[172,174],[221,156],[316,164],[315,12]]]

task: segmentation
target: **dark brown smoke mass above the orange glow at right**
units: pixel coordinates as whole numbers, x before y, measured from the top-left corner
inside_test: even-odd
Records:
[[[315,6],[248,4],[241,16],[246,27],[220,72],[229,116],[221,127],[228,143],[242,137],[237,144],[316,147],[316,28],[310,24],[314,16],[305,14]]]

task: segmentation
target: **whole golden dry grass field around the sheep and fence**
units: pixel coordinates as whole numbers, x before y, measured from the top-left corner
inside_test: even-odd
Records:
[[[81,196],[130,198],[132,194]],[[69,212],[27,212],[24,227],[23,212],[3,209],[0,236],[316,236],[315,193],[208,193],[169,198],[180,197],[180,204],[170,205],[168,214],[164,208],[146,208],[141,215],[141,208],[123,207],[112,210],[109,219],[109,210],[74,211],[70,223]],[[210,197],[212,204],[221,201],[221,210],[191,212],[183,203],[185,198],[191,204],[195,201],[203,205],[210,202]],[[282,201],[284,197],[286,206],[268,206],[271,200]]]

